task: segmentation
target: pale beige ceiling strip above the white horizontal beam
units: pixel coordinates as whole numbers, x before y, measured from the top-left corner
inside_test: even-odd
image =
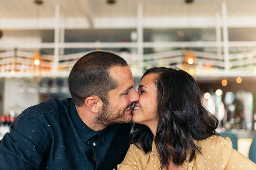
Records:
[[[144,17],[215,16],[221,13],[223,0],[116,0],[109,5],[106,0],[43,0],[38,6],[34,0],[0,0],[0,19],[54,17],[55,5],[60,4],[65,17],[136,17],[137,4],[144,7]],[[256,16],[255,0],[225,0],[229,16]]]

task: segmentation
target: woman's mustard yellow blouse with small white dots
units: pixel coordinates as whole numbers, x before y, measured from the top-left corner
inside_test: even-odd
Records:
[[[196,152],[191,162],[187,158],[182,164],[184,170],[256,170],[255,163],[232,148],[232,142],[228,137],[213,135],[194,142],[201,148],[202,155]],[[152,151],[148,153],[131,144],[124,161],[117,165],[118,170],[159,170],[159,168],[160,161],[154,142]]]

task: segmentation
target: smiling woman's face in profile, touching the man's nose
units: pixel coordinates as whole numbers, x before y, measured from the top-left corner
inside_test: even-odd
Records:
[[[132,120],[148,127],[157,124],[157,87],[154,83],[157,74],[146,74],[139,83],[139,101],[135,103]]]

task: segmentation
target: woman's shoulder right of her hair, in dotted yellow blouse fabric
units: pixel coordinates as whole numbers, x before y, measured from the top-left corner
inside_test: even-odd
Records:
[[[227,169],[243,168],[255,169],[255,164],[248,158],[232,148],[229,137],[213,135],[203,140],[194,140],[200,148],[196,153],[196,165],[203,169]]]

